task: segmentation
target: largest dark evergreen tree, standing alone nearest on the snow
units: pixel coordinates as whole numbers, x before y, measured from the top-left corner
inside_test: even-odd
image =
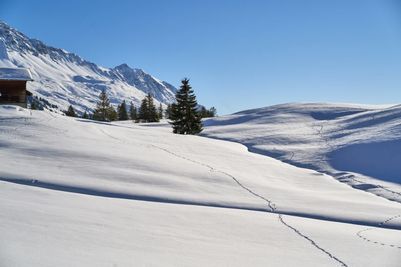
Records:
[[[202,119],[197,109],[197,101],[189,79],[181,80],[182,85],[176,94],[177,104],[172,104],[172,120],[169,122],[173,126],[173,132],[180,135],[195,135],[201,132]]]

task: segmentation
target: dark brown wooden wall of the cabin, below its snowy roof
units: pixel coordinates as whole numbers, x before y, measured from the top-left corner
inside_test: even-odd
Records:
[[[27,101],[26,81],[0,81],[0,104],[25,103]]]

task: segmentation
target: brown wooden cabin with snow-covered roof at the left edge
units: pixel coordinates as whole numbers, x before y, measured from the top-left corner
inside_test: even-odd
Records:
[[[28,68],[0,68],[0,105],[27,108],[28,81],[33,81]]]

